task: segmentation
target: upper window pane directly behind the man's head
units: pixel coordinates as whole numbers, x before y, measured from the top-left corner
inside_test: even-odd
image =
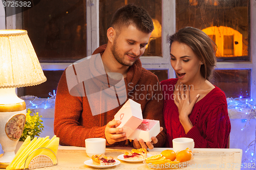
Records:
[[[152,17],[155,29],[151,34],[151,38],[146,47],[143,56],[162,56],[162,1],[144,1],[144,0],[115,0],[115,1],[99,1],[99,34],[100,45],[108,43],[106,30],[110,27],[113,14],[118,8],[127,4],[134,4],[144,8]]]

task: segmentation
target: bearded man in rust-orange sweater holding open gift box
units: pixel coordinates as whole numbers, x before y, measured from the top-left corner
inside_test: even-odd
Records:
[[[93,55],[100,54],[103,70],[108,80],[111,77],[110,73],[122,75],[127,99],[132,99],[141,105],[144,119],[159,120],[161,132],[156,137],[153,136],[152,141],[127,140],[123,128],[118,128],[121,122],[114,120],[114,115],[123,104],[112,110],[93,115],[88,96],[73,96],[69,93],[66,71],[64,71],[56,93],[54,133],[60,138],[61,145],[85,147],[85,139],[98,137],[105,138],[106,146],[111,147],[134,147],[136,149],[163,147],[166,139],[162,128],[163,100],[157,98],[162,96],[162,91],[157,76],[142,68],[139,59],[154,30],[152,18],[144,9],[127,5],[116,11],[110,26],[107,31],[108,43],[98,47]],[[154,85],[159,88],[157,90],[139,88]],[[105,100],[103,103],[112,105],[108,102]]]

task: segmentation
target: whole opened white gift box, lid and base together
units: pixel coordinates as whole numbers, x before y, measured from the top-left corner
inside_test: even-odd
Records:
[[[137,129],[142,121],[142,111],[140,104],[129,99],[122,108],[116,113],[115,120],[120,120],[121,124],[118,128],[122,128],[126,133],[127,139],[142,139],[144,142],[151,141],[152,136],[157,136],[160,133],[159,120],[144,119],[147,122],[146,129]],[[145,125],[142,125],[145,127]]]

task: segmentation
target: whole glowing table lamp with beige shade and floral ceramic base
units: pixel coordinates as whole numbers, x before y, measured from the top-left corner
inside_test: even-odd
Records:
[[[0,30],[0,168],[15,156],[26,123],[26,104],[16,87],[41,84],[46,77],[25,30]]]

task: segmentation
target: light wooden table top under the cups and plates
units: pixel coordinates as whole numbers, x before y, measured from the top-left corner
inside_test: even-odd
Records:
[[[170,148],[154,148],[148,150],[148,154],[157,155],[163,150]],[[125,151],[131,151],[132,148],[106,148],[106,156],[112,156],[117,159],[118,155]],[[90,160],[86,154],[85,148],[80,147],[62,147],[59,146],[58,164],[41,169],[100,169],[84,164],[84,161]],[[241,149],[194,149],[194,159],[187,166],[178,169],[241,169],[242,150]],[[169,166],[166,166],[169,168]],[[130,163],[120,160],[120,164],[108,169],[153,169],[143,162]]]

